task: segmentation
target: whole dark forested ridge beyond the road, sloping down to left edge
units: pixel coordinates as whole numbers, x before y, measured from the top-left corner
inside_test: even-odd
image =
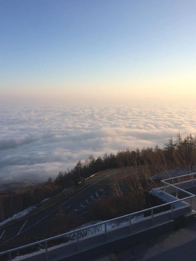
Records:
[[[60,171],[55,179],[49,178],[42,186],[17,189],[0,195],[0,222],[25,208],[40,203],[41,200],[54,196],[64,188],[77,184],[80,177],[115,167],[147,166],[145,176],[165,172],[180,167],[189,173],[196,165],[196,136],[187,135],[182,139],[180,132],[175,138],[170,137],[163,148],[143,147],[141,150],[126,148],[116,154],[105,153],[103,157],[93,155],[82,162],[79,160],[73,169]]]

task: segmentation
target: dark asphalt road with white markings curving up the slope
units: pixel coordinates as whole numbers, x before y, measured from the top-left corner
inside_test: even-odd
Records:
[[[131,171],[131,169],[126,168],[127,171]],[[51,218],[58,213],[59,209],[66,213],[75,210],[77,216],[85,214],[85,212],[89,211],[89,206],[94,200],[101,199],[103,196],[111,193],[111,177],[114,177],[115,174],[120,176],[123,173],[124,170],[122,169],[105,170],[98,173],[86,181],[86,187],[82,191],[26,220],[1,229],[0,251],[2,245],[8,244],[10,240],[20,236],[26,235],[28,237],[31,234],[36,237],[37,231],[40,233],[47,222],[51,224]]]

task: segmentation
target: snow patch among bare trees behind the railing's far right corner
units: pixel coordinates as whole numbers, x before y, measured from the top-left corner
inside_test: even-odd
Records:
[[[190,173],[193,173],[192,170],[190,170]],[[178,176],[182,176],[182,175],[188,175],[189,174],[189,169],[187,168],[187,170],[183,170],[180,167],[176,167],[175,169],[171,169],[168,170],[168,173],[166,171],[162,171],[157,173],[156,175],[152,176],[152,180],[160,180],[160,179],[166,179],[166,178],[170,178],[170,177],[178,177]]]

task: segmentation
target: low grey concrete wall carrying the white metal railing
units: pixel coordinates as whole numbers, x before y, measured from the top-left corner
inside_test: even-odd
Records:
[[[194,180],[196,186],[196,180]],[[189,188],[191,181],[185,181],[181,183],[181,188]],[[164,187],[155,188],[151,190],[151,193],[166,202],[172,202],[176,198],[167,192],[163,191]],[[166,189],[170,192],[174,192],[175,188],[166,186]],[[153,222],[151,216],[133,221],[131,226],[118,226],[107,231],[107,236],[104,232],[99,232],[91,236],[83,237],[77,240],[60,244],[51,248],[48,248],[48,260],[87,260],[91,256],[93,257],[97,251],[99,254],[106,251],[118,251],[123,247],[131,246],[147,240],[150,237],[154,237],[174,229],[174,221],[177,217],[185,216],[190,213],[190,205],[186,202],[178,202],[174,204],[173,215],[171,210],[164,211],[153,215]],[[193,213],[195,215],[195,212]],[[43,261],[45,260],[45,250],[17,257],[15,261]]]

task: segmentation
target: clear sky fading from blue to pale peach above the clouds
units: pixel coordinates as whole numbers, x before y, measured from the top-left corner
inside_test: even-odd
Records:
[[[195,1],[0,1],[1,105],[194,100]]]

